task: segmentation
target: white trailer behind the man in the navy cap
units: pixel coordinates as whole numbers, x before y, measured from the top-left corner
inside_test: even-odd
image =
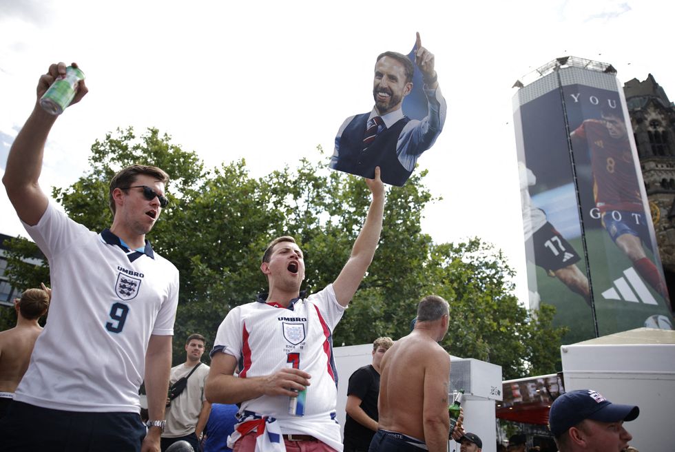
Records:
[[[626,422],[639,451],[675,450],[675,331],[638,328],[561,347],[565,391],[595,389],[640,407]]]

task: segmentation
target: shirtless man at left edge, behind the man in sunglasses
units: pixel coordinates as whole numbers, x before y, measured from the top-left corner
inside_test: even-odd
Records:
[[[42,327],[37,320],[49,307],[50,289],[28,289],[21,298],[14,298],[17,310],[17,326],[0,333],[0,418],[14,398],[33,352],[33,345]]]

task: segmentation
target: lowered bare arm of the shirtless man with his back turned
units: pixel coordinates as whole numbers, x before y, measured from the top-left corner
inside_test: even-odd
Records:
[[[429,452],[448,450],[450,417],[448,416],[448,379],[450,357],[442,349],[429,353],[424,370],[424,442]]]

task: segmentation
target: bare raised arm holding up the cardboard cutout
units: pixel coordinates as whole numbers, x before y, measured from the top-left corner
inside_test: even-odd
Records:
[[[346,306],[359,288],[368,266],[373,262],[377,242],[382,232],[382,216],[384,215],[384,184],[380,179],[380,167],[375,167],[375,178],[366,178],[366,184],[371,189],[373,199],[368,215],[359,236],[354,242],[349,260],[342,267],[340,275],[333,283],[337,302]]]

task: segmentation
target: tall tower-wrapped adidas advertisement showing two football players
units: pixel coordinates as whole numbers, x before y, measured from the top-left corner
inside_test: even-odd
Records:
[[[561,68],[515,97],[530,305],[557,307],[568,343],[672,324],[622,94]]]

